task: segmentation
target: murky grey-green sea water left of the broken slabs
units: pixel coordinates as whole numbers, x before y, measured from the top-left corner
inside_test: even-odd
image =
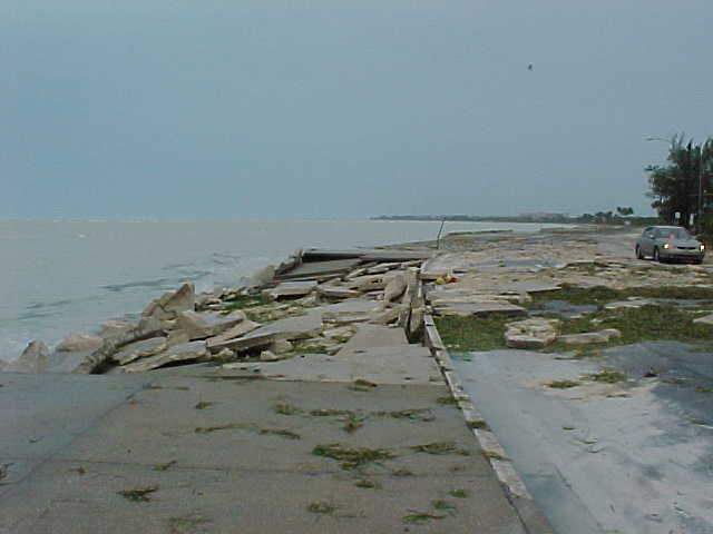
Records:
[[[164,291],[243,285],[299,248],[433,239],[440,222],[377,220],[0,220],[0,359],[40,339],[137,314]],[[443,231],[551,225],[447,222]]]

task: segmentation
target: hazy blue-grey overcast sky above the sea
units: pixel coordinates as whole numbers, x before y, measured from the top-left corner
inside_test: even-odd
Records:
[[[711,0],[3,0],[0,218],[651,214]],[[528,69],[531,65],[531,70]]]

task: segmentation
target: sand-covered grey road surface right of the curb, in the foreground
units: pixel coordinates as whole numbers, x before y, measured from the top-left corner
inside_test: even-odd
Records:
[[[663,342],[605,354],[492,350],[455,363],[556,532],[713,533],[711,354]],[[631,382],[545,386],[602,368]]]

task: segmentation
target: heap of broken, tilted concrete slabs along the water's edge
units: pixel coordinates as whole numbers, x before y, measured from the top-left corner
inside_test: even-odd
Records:
[[[184,284],[152,301],[138,323],[105,322],[98,334],[72,334],[53,353],[31,344],[12,368],[135,374],[196,362],[279,362],[305,353],[334,355],[360,324],[408,330],[399,322],[410,317],[404,294],[422,263],[418,254],[402,261],[393,260],[395,253],[383,254],[384,260],[379,254],[368,260],[319,254],[328,259],[305,264],[295,256],[263,269],[253,287],[196,295],[193,284]],[[300,278],[305,273],[313,279]],[[418,314],[422,309],[413,323]]]

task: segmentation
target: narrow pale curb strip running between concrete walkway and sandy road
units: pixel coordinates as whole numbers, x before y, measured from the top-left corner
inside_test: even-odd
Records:
[[[498,437],[490,431],[485,417],[466,393],[458,375],[453,370],[453,363],[430,314],[423,316],[423,330],[426,346],[430,348],[431,355],[443,374],[448,388],[463,415],[466,425],[472,431],[480,448],[482,448],[484,455],[490,462],[490,466],[505,488],[508,501],[520,517],[525,531],[528,534],[554,534],[549,521],[547,521],[527,491],[522,478],[515,471],[512,462],[505,454]]]

